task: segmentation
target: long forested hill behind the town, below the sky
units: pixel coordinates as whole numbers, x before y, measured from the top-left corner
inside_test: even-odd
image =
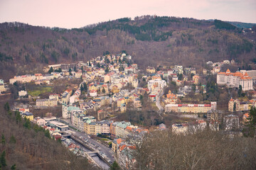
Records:
[[[135,62],[200,66],[208,60],[252,60],[255,31],[223,21],[141,16],[71,30],[0,24],[0,79],[37,72],[46,64],[85,61],[126,50]],[[36,67],[35,67],[36,66]]]

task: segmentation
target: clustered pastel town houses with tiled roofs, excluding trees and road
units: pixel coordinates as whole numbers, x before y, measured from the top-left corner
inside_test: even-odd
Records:
[[[122,53],[122,55],[105,55],[96,57],[87,62],[78,64],[54,64],[49,65],[52,70],[49,74],[29,74],[16,76],[9,80],[9,84],[15,82],[26,84],[31,81],[36,84],[50,84],[53,79],[81,79],[77,89],[63,89],[62,94],[50,94],[48,98],[37,98],[35,106],[38,108],[61,106],[62,118],[73,127],[88,135],[108,135],[112,141],[112,151],[117,154],[117,159],[122,167],[127,165],[127,154],[132,152],[134,146],[127,142],[127,137],[142,137],[149,130],[137,125],[132,125],[126,121],[111,120],[114,113],[124,113],[127,107],[140,110],[142,108],[142,98],[147,95],[149,101],[156,103],[156,107],[165,113],[183,113],[204,115],[204,119],[198,118],[187,123],[173,123],[172,132],[176,134],[186,134],[187,132],[197,132],[205,128],[220,130],[220,123],[223,119],[225,130],[234,130],[240,127],[240,120],[235,112],[244,112],[242,123],[248,118],[247,111],[255,107],[256,92],[254,83],[256,70],[240,70],[238,72],[220,72],[224,64],[235,64],[232,60],[223,62],[207,62],[211,70],[198,69],[175,65],[174,67],[152,67],[142,71],[139,77],[139,68],[132,62],[132,56]],[[195,103],[183,103],[181,98],[194,94],[206,95],[206,84],[203,84],[203,77],[208,74],[217,74],[215,84],[227,86],[228,88],[241,88],[242,91],[250,92],[252,99],[241,101],[238,98],[230,98],[227,110],[229,114],[219,111],[216,101],[197,101]],[[139,86],[140,83],[143,86]],[[169,90],[164,94],[164,90],[169,84],[177,86],[176,91]],[[0,92],[6,91],[4,81],[0,80]],[[18,96],[28,96],[27,91],[18,91]],[[81,98],[83,96],[83,98]],[[68,125],[60,123],[56,118],[33,118],[33,114],[27,108],[19,108],[23,118],[41,125],[48,129],[55,139],[61,138],[61,131],[68,130]],[[97,117],[90,115],[97,112]],[[232,114],[230,114],[232,113]],[[166,130],[163,123],[157,130]],[[70,144],[67,144],[70,147]],[[73,146],[73,145],[72,145]],[[72,147],[71,146],[71,147]],[[74,147],[74,146],[73,146]],[[135,160],[132,159],[132,164]],[[131,163],[131,162],[130,162]]]

